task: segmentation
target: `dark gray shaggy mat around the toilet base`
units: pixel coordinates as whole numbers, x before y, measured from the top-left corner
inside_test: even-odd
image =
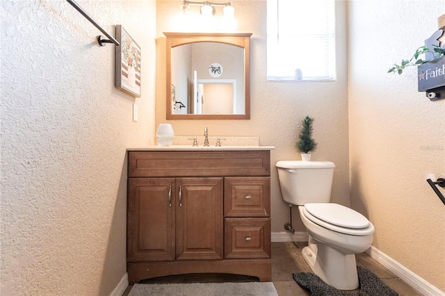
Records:
[[[294,273],[292,276],[298,285],[311,291],[312,296],[398,296],[394,290],[366,268],[357,266],[357,274],[359,275],[360,285],[358,293],[346,293],[337,290],[310,272]]]

